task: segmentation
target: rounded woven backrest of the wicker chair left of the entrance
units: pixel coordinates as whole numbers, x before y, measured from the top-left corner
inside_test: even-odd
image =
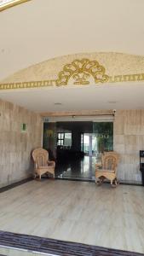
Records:
[[[36,148],[32,152],[32,158],[38,166],[47,166],[49,160],[49,153],[43,148]]]

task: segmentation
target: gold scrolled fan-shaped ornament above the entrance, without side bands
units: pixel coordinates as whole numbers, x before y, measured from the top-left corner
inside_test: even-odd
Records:
[[[72,78],[73,84],[90,84],[90,76],[95,84],[107,82],[108,76],[105,73],[105,67],[98,61],[89,61],[89,59],[74,60],[71,64],[66,64],[63,70],[58,74],[56,85],[67,85]]]

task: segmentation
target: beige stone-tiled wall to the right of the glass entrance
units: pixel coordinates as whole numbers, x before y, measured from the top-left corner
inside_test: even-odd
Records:
[[[119,110],[114,120],[114,150],[120,154],[118,178],[141,183],[139,151],[144,149],[144,110]]]

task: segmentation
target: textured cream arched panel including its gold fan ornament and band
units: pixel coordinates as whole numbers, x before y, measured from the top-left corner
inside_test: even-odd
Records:
[[[60,56],[20,70],[0,90],[46,86],[144,81],[144,57],[120,53]]]

